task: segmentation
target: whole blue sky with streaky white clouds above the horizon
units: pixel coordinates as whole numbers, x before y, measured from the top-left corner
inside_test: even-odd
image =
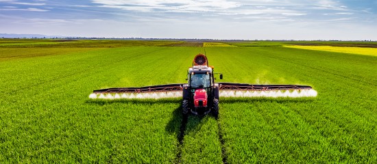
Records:
[[[0,33],[377,40],[377,0],[0,0]]]

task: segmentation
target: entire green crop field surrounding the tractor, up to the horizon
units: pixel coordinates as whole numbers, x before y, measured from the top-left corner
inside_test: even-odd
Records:
[[[377,163],[377,56],[284,42],[1,40],[0,163]],[[197,53],[219,82],[311,85],[315,98],[90,100],[185,83]]]

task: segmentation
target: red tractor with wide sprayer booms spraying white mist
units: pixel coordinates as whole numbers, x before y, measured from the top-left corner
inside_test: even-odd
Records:
[[[146,87],[116,87],[94,90],[89,98],[179,98],[182,113],[219,114],[221,97],[314,97],[317,92],[307,85],[252,85],[245,83],[215,83],[214,67],[208,66],[206,55],[198,54],[187,72],[187,83]],[[219,74],[223,79],[223,74]]]

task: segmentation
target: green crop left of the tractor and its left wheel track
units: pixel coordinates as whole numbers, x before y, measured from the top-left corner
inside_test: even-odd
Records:
[[[90,102],[88,93],[182,82],[186,74],[176,71],[189,66],[184,54],[165,71],[165,55],[180,51],[196,53],[133,47],[1,61],[0,161],[174,161],[180,100]]]

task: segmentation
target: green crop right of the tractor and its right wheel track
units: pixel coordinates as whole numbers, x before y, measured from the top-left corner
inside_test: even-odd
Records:
[[[220,102],[230,163],[376,161],[375,57],[283,47],[206,51],[222,59],[212,63],[222,72],[234,68],[222,68],[230,61],[243,68],[224,76],[231,81],[306,84],[319,93],[314,100]]]

